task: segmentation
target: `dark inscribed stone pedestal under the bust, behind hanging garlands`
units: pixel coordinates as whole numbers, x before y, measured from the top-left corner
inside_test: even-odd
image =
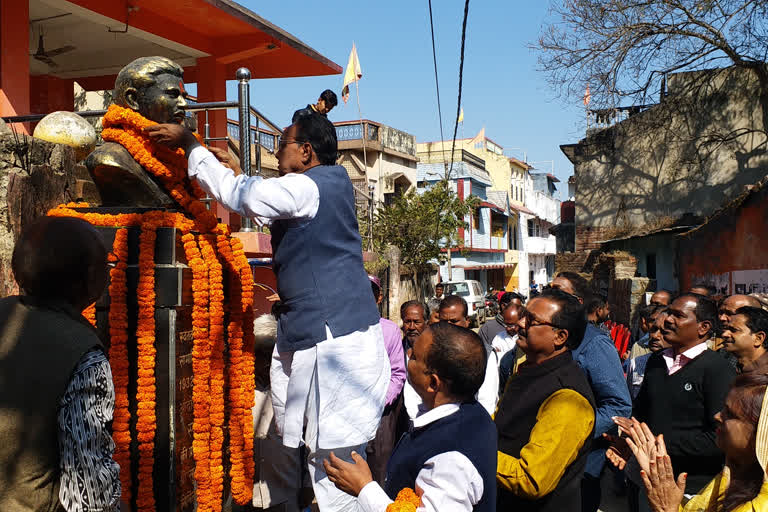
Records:
[[[144,210],[98,208],[98,213],[126,213]],[[98,228],[109,247],[117,228]],[[128,268],[128,357],[130,361],[129,396],[136,395],[136,321],[138,257],[140,229],[129,228]],[[194,458],[192,456],[192,271],[186,265],[181,234],[173,228],[157,230],[155,245],[155,362],[157,430],[153,474],[157,510],[192,512],[196,508]],[[96,304],[97,328],[109,340],[109,296]],[[131,398],[131,445],[133,496],[136,495],[136,402]],[[132,506],[134,504],[132,503]],[[135,507],[132,507],[135,510]]]

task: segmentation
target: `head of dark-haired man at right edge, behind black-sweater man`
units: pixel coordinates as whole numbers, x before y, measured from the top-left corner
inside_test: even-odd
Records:
[[[768,311],[737,309],[723,331],[723,348],[736,356],[741,373],[768,373]]]

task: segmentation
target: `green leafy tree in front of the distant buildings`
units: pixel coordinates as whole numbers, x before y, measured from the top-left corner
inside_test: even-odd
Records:
[[[405,265],[419,267],[432,260],[442,263],[448,257],[442,249],[463,246],[459,228],[466,227],[464,216],[478,204],[472,196],[462,201],[442,180],[421,194],[411,191],[382,206],[373,216],[373,226],[369,219],[361,218],[360,230],[365,236],[372,227],[374,250],[383,254],[387,245],[394,245]]]

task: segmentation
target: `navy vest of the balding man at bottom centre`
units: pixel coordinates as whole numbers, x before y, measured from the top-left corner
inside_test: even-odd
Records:
[[[476,400],[455,413],[403,434],[387,463],[384,490],[391,499],[405,487],[414,488],[424,463],[435,455],[459,452],[483,479],[483,497],[475,512],[496,510],[496,426]]]

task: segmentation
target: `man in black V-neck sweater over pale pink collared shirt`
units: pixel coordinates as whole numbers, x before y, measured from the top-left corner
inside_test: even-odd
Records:
[[[664,435],[675,472],[688,473],[686,493],[695,494],[722,469],[714,416],[736,372],[707,348],[717,322],[713,301],[684,294],[667,312],[662,334],[671,347],[648,360],[633,412],[654,434]]]

